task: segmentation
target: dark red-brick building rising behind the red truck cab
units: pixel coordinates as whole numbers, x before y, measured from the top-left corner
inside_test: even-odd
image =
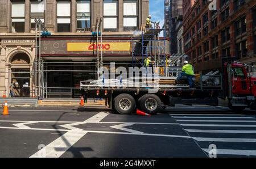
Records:
[[[256,62],[256,1],[183,1],[184,52],[197,73],[220,70],[221,57]]]

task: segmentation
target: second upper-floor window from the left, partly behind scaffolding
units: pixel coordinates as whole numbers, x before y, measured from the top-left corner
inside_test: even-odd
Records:
[[[44,23],[44,1],[31,1],[31,29],[35,29],[35,19],[40,19]]]

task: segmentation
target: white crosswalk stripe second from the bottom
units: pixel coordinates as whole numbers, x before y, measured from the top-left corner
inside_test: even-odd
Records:
[[[207,138],[192,137],[196,141],[216,141],[216,142],[256,142],[255,138]]]

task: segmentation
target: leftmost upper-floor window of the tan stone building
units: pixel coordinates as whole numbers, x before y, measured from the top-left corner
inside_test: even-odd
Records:
[[[25,32],[25,3],[11,3],[12,32]]]

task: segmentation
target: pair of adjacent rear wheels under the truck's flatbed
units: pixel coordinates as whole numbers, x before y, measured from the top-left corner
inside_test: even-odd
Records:
[[[158,113],[162,107],[160,98],[154,94],[146,94],[138,99],[138,107],[150,115]],[[137,103],[133,96],[120,94],[114,99],[114,110],[123,115],[130,115],[136,111]]]

